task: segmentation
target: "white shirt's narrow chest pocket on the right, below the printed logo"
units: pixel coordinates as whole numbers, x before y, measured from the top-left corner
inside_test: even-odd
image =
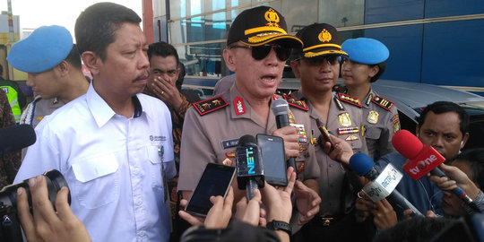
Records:
[[[163,148],[162,148],[163,147]],[[163,160],[161,160],[162,143],[146,146],[146,159],[149,160],[151,187],[155,190],[163,190]]]

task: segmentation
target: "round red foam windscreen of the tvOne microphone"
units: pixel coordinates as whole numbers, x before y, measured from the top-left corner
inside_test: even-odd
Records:
[[[395,150],[407,159],[414,159],[424,148],[417,136],[404,129],[393,134],[392,144]]]

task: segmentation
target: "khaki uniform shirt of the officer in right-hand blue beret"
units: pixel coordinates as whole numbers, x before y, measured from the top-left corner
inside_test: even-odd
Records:
[[[393,102],[370,90],[362,105],[368,156],[375,159],[376,151],[380,157],[395,151],[392,138],[400,130],[400,119]]]

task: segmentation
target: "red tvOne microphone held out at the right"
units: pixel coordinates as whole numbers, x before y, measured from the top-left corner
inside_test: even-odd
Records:
[[[392,144],[395,150],[402,154],[408,160],[405,161],[402,168],[414,180],[425,176],[428,172],[437,177],[448,177],[444,171],[437,168],[444,163],[445,158],[432,146],[424,145],[419,138],[409,131],[402,129],[393,134]],[[472,203],[471,197],[465,191],[457,186],[453,190],[463,202],[467,203],[472,209],[480,212],[480,209]]]

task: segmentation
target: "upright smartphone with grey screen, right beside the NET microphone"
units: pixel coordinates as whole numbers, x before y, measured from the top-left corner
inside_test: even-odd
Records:
[[[278,136],[257,134],[257,145],[261,148],[267,183],[272,186],[288,186],[284,140]]]

